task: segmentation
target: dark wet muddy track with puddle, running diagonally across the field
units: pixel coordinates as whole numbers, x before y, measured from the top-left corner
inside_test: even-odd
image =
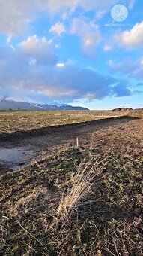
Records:
[[[56,154],[62,148],[76,145],[76,137],[79,144],[88,143],[92,133],[106,130],[112,126],[118,126],[132,122],[135,117],[110,117],[84,123],[72,123],[63,126],[43,127],[37,130],[17,131],[0,135],[0,172],[16,170],[38,160],[44,154]],[[89,136],[89,139],[87,139]]]

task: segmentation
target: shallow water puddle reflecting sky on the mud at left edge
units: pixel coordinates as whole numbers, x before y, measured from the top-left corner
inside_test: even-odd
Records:
[[[27,148],[0,148],[0,163],[15,171],[29,163],[34,152]]]

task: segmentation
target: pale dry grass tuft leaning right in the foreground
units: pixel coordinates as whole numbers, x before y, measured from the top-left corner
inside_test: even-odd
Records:
[[[96,166],[97,162],[93,165],[91,160],[84,169],[81,165],[78,171],[71,175],[67,192],[64,191],[58,206],[57,221],[67,222],[73,212],[78,212],[79,203],[81,205],[82,198],[91,191],[91,185],[96,181],[95,178],[102,172],[99,169],[97,170]]]

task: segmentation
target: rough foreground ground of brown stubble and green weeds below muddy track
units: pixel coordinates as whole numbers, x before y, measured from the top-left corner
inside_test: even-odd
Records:
[[[109,126],[1,175],[1,255],[141,256],[142,128]]]

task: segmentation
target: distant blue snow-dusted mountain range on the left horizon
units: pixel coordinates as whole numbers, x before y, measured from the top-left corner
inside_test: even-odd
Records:
[[[0,110],[88,110],[88,108],[73,107],[71,105],[51,105],[51,104],[35,104],[31,102],[14,102],[13,100],[2,99],[0,101]]]

